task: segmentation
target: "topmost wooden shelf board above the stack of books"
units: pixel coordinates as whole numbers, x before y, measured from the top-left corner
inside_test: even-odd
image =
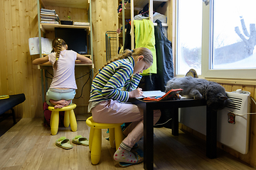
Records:
[[[67,8],[89,8],[90,1],[88,0],[40,0],[43,6],[60,6]]]

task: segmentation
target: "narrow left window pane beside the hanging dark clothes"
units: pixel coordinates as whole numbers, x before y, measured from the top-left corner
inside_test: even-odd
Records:
[[[195,69],[201,74],[202,1],[178,0],[176,73]]]

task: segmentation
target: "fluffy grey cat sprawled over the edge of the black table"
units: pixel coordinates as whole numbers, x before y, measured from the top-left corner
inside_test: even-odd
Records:
[[[166,92],[171,89],[183,89],[180,92],[181,96],[205,99],[207,105],[214,110],[222,109],[230,102],[223,86],[206,79],[193,77],[173,78],[166,83]]]

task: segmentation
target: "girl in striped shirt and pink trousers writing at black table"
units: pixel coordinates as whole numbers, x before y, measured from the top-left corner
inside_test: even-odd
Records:
[[[126,167],[139,164],[143,157],[131,152],[132,147],[143,136],[143,110],[128,103],[129,98],[142,96],[137,88],[142,79],[140,73],[153,63],[153,55],[146,47],[124,50],[122,55],[107,64],[92,81],[88,112],[96,123],[130,123],[124,130],[124,140],[114,153],[114,160]],[[159,120],[160,111],[154,111],[154,124]]]

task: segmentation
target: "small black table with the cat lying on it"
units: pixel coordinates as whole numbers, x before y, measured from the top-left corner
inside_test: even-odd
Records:
[[[154,110],[170,109],[172,114],[172,135],[178,135],[178,108],[206,106],[205,100],[181,99],[173,101],[142,101],[132,103],[144,109],[144,169],[154,169]],[[217,152],[217,112],[206,106],[206,156],[216,158]]]

